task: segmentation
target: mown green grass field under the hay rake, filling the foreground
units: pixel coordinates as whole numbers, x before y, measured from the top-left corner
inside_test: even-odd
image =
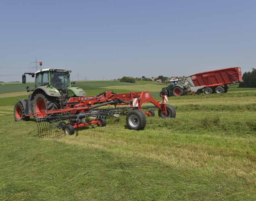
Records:
[[[94,84],[77,83],[89,95],[127,91]],[[127,86],[151,91],[147,84]],[[0,98],[0,200],[256,199],[256,89],[169,97],[175,119],[155,111],[143,131],[107,119],[60,140],[39,139],[33,121],[14,122],[13,99]]]

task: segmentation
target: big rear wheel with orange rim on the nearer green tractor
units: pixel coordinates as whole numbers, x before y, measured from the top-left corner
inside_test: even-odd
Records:
[[[32,110],[33,113],[42,111],[42,110],[57,110],[58,104],[56,103],[56,98],[46,95],[44,92],[39,92],[35,94],[32,100]],[[43,116],[42,116],[43,117]],[[35,117],[35,121],[42,117]]]

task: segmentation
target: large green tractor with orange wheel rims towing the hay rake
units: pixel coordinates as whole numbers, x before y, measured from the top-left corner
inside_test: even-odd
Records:
[[[70,81],[71,70],[43,69],[35,73],[24,73],[22,83],[26,83],[26,74],[35,77],[35,89],[26,86],[27,92],[31,92],[27,99],[18,99],[14,106],[14,118],[16,121],[29,120],[28,114],[39,111],[49,111],[66,108],[70,97],[86,96],[83,89],[73,86]],[[35,117],[35,120],[41,118]]]

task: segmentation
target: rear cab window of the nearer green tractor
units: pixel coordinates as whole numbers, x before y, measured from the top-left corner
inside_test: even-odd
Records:
[[[51,85],[58,88],[65,88],[69,86],[69,74],[51,72]]]

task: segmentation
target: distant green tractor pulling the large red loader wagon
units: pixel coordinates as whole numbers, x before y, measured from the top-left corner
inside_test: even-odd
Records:
[[[160,91],[160,97],[162,96],[182,96],[188,93],[186,85],[181,83],[181,79],[169,80],[170,85],[163,87]]]

